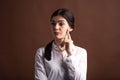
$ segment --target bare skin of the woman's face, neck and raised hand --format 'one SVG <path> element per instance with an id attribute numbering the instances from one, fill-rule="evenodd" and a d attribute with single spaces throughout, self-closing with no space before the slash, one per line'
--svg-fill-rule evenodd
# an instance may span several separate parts
<path id="1" fill-rule="evenodd" d="M 72 55 L 70 32 L 73 30 L 68 24 L 67 20 L 62 16 L 55 16 L 51 20 L 51 30 L 54 37 L 55 44 L 61 51 L 66 50 L 68 56 Z"/>

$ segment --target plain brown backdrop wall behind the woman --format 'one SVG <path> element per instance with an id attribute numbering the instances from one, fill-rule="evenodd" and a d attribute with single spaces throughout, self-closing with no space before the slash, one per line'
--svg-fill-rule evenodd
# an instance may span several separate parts
<path id="1" fill-rule="evenodd" d="M 61 7 L 76 17 L 88 80 L 120 80 L 120 0 L 0 0 L 0 80 L 34 80 L 35 52 L 52 39 L 49 17 Z"/>

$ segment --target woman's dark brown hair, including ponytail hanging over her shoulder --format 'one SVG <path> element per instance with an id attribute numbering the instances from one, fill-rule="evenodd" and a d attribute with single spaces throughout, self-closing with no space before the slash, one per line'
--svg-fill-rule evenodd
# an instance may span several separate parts
<path id="1" fill-rule="evenodd" d="M 68 24 L 70 25 L 70 27 L 72 29 L 74 29 L 74 16 L 73 14 L 65 8 L 61 8 L 61 9 L 57 9 L 55 12 L 53 12 L 53 14 L 51 15 L 50 21 L 52 21 L 52 18 L 55 16 L 62 16 L 64 17 Z M 46 47 L 45 47 L 45 54 L 44 54 L 44 58 L 46 58 L 47 60 L 51 60 L 51 51 L 52 51 L 52 43 L 54 40 L 52 40 L 51 42 L 49 42 Z"/>

